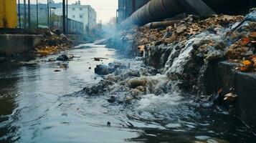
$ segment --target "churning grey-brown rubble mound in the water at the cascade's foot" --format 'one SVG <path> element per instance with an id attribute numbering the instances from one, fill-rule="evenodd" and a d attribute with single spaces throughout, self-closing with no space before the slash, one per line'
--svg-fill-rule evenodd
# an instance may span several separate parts
<path id="1" fill-rule="evenodd" d="M 132 65 L 127 62 L 110 63 L 115 71 L 104 76 L 98 84 L 85 87 L 83 92 L 89 96 L 105 95 L 108 102 L 121 104 L 140 99 L 145 94 L 161 95 L 171 91 L 172 86 L 166 76 L 156 74 L 152 67 L 143 66 L 142 61 Z"/>

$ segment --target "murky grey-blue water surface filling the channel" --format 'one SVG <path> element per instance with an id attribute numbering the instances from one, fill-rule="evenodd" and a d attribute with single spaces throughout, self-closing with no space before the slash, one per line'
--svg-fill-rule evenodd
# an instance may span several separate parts
<path id="1" fill-rule="evenodd" d="M 130 104 L 110 104 L 101 94 L 78 92 L 102 79 L 94 74 L 96 64 L 120 56 L 92 44 L 67 52 L 75 55 L 72 61 L 42 58 L 37 64 L 0 65 L 0 142 L 256 141 L 250 129 L 230 120 L 224 110 L 199 108 L 180 94 L 147 94 Z"/>

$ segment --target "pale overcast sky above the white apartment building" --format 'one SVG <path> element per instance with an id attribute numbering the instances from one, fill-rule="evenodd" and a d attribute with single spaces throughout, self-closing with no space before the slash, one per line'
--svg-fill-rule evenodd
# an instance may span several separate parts
<path id="1" fill-rule="evenodd" d="M 35 0 L 32 0 L 35 1 Z M 47 0 L 39 0 L 39 3 L 45 3 Z M 62 0 L 54 0 L 62 2 Z M 75 3 L 77 0 L 68 0 L 68 4 Z M 97 22 L 101 19 L 103 23 L 107 23 L 112 17 L 116 15 L 118 9 L 118 0 L 80 0 L 81 4 L 90 5 L 97 12 Z"/>

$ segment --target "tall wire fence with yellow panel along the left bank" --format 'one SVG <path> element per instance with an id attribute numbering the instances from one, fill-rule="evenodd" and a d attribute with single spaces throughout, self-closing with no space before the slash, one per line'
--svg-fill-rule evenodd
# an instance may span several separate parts
<path id="1" fill-rule="evenodd" d="M 67 1 L 67 0 L 65 0 Z M 65 8 L 67 3 L 65 5 Z M 63 5 L 51 0 L 0 0 L 0 29 L 63 29 Z M 67 9 L 65 15 L 67 15 Z M 67 34 L 82 34 L 83 24 L 65 19 Z"/>

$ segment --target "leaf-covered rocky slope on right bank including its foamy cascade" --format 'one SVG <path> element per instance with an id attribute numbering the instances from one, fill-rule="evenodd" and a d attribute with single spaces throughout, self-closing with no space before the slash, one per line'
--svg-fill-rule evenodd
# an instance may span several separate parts
<path id="1" fill-rule="evenodd" d="M 146 65 L 179 80 L 182 89 L 196 92 L 204 67 L 213 61 L 229 60 L 241 63 L 240 71 L 255 71 L 256 22 L 247 19 L 254 16 L 252 13 L 206 19 L 191 15 L 166 29 L 133 27 L 121 37 L 133 37 L 133 49 L 143 55 Z"/>

